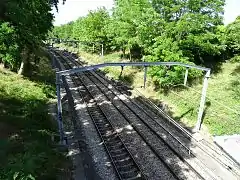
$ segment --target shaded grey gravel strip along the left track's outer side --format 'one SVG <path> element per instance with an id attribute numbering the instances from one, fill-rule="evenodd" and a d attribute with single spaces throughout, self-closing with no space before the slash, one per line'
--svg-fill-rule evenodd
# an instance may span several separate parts
<path id="1" fill-rule="evenodd" d="M 69 76 L 66 76 L 66 82 L 68 86 L 66 88 L 69 88 L 73 101 L 70 102 L 72 103 L 71 108 L 74 108 L 75 111 L 75 114 L 72 115 L 74 132 L 68 137 L 70 143 L 69 147 L 73 148 L 75 146 L 75 150 L 71 152 L 71 155 L 75 156 L 76 154 L 81 154 L 86 179 L 118 180 L 119 178 L 116 176 L 116 172 L 111 164 L 109 156 L 105 151 L 89 114 L 87 113 L 86 104 L 82 101 L 79 95 L 78 87 L 75 87 Z M 78 160 L 79 158 L 73 159 L 75 169 L 73 178 L 76 180 L 84 180 L 82 179 L 83 176 L 79 175 L 79 171 L 82 171 L 82 169 Z"/>

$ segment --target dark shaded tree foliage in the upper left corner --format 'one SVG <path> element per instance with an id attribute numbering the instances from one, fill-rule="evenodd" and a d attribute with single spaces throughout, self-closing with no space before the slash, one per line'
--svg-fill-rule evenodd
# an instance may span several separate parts
<path id="1" fill-rule="evenodd" d="M 52 6 L 58 0 L 1 0 L 0 63 L 17 70 L 53 27 Z M 27 56 L 27 57 L 26 57 Z"/>

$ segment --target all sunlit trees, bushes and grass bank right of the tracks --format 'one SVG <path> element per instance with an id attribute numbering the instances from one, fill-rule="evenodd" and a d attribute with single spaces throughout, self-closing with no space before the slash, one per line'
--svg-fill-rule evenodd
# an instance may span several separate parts
<path id="1" fill-rule="evenodd" d="M 239 133 L 240 17 L 224 26 L 224 5 L 222 0 L 116 0 L 111 13 L 103 7 L 54 27 L 49 42 L 77 47 L 80 55 L 93 64 L 175 61 L 209 67 L 214 74 L 208 88 L 204 124 L 211 134 Z M 105 55 L 99 58 L 89 53 Z M 121 68 L 104 69 L 134 87 L 143 84 L 140 70 L 125 67 L 121 74 Z M 144 94 L 168 107 L 165 109 L 169 114 L 192 128 L 197 119 L 203 73 L 191 69 L 191 88 L 186 89 L 181 85 L 184 71 L 181 66 L 149 67 Z M 168 106 L 162 105 L 165 103 Z"/>

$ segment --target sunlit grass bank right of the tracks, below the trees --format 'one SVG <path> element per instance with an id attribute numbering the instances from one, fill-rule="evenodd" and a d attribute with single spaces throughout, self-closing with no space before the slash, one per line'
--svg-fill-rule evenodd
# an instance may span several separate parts
<path id="1" fill-rule="evenodd" d="M 104 57 L 90 54 L 74 48 L 65 47 L 70 51 L 78 52 L 89 64 L 123 61 L 120 53 L 107 54 Z M 126 60 L 124 60 L 126 61 Z M 236 134 L 240 132 L 240 63 L 230 61 L 223 63 L 221 71 L 209 79 L 207 99 L 205 104 L 203 129 L 212 135 Z M 139 90 L 150 100 L 154 101 L 175 120 L 189 129 L 193 129 L 197 121 L 198 107 L 201 98 L 202 84 L 191 87 L 178 85 L 168 91 L 156 88 L 153 80 L 148 77 L 147 88 L 139 88 L 143 84 L 141 69 L 105 68 L 108 76 L 122 80 Z"/>

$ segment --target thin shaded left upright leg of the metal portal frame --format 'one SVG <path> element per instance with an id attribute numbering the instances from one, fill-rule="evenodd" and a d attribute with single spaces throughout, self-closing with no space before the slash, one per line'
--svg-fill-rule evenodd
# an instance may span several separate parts
<path id="1" fill-rule="evenodd" d="M 59 129 L 59 135 L 60 135 L 60 143 L 63 144 L 63 122 L 62 122 L 62 103 L 61 103 L 61 80 L 60 75 L 56 73 L 56 86 L 57 86 L 57 110 L 58 110 L 58 129 Z"/>

